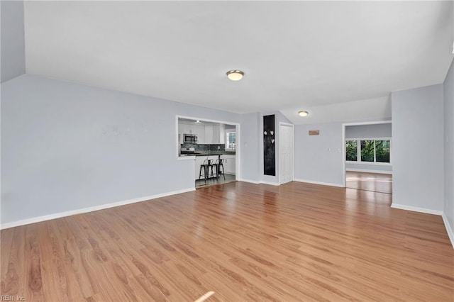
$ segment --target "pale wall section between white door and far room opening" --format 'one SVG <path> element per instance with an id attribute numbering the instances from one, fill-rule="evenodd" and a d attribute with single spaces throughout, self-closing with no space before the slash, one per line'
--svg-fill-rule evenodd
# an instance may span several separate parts
<path id="1" fill-rule="evenodd" d="M 344 186 L 342 132 L 342 123 L 295 125 L 295 179 Z"/>

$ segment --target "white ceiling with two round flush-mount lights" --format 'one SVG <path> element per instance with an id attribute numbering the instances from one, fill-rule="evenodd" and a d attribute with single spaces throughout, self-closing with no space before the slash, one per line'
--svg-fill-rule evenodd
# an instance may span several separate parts
<path id="1" fill-rule="evenodd" d="M 351 118 L 387 118 L 390 91 L 442 83 L 453 58 L 451 1 L 26 1 L 24 13 L 28 74 L 294 123 L 346 121 L 359 100 Z"/>

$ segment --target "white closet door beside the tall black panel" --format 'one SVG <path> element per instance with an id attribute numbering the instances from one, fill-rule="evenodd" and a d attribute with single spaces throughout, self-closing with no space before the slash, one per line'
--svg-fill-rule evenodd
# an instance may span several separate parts
<path id="1" fill-rule="evenodd" d="M 279 125 L 279 182 L 293 181 L 294 169 L 293 125 Z"/>

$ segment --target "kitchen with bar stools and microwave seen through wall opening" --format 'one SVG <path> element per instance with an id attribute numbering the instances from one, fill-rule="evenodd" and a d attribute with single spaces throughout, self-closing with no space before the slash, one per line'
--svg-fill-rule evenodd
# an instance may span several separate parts
<path id="1" fill-rule="evenodd" d="M 196 188 L 236 180 L 236 125 L 178 118 L 179 157 L 194 158 Z"/>

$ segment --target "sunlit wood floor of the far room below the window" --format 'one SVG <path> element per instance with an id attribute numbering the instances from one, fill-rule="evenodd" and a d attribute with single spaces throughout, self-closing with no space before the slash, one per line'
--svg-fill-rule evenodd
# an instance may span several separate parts
<path id="1" fill-rule="evenodd" d="M 347 171 L 345 186 L 351 189 L 392 194 L 392 174 Z"/>

